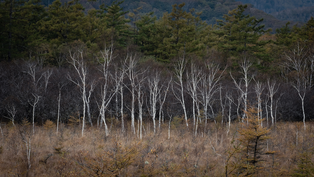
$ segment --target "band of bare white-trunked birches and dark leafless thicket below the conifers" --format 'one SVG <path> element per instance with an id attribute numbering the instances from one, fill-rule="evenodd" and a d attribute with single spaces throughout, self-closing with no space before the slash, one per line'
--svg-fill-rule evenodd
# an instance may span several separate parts
<path id="1" fill-rule="evenodd" d="M 93 60 L 78 41 L 64 54 L 62 67 L 31 60 L 1 63 L 1 118 L 10 124 L 23 119 L 67 124 L 74 117 L 106 131 L 114 121 L 135 133 L 143 121 L 158 129 L 171 116 L 183 116 L 188 127 L 208 121 L 228 126 L 246 120 L 250 103 L 263 110 L 264 126 L 308 121 L 313 117 L 313 54 L 300 43 L 295 47 L 276 76 L 257 72 L 250 58 L 239 62 L 238 71 L 223 68 L 214 55 L 188 55 L 165 65 L 132 46 L 114 50 L 110 45 Z"/>

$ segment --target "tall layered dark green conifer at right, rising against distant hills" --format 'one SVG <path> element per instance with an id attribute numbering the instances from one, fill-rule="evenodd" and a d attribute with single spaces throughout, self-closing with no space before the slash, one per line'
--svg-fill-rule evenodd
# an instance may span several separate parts
<path id="1" fill-rule="evenodd" d="M 260 41 L 259 38 L 270 30 L 263 30 L 264 25 L 261 25 L 263 19 L 244 15 L 246 8 L 247 5 L 239 5 L 223 16 L 225 20 L 217 20 L 220 30 L 217 30 L 216 34 L 222 37 L 219 48 L 231 55 L 251 54 L 268 61 L 269 57 L 264 53 L 263 46 L 270 41 Z"/>

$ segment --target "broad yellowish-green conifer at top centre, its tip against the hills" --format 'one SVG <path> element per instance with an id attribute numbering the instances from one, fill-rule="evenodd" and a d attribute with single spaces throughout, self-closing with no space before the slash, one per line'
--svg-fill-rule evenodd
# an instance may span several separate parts
<path id="1" fill-rule="evenodd" d="M 155 52 L 162 61 L 170 62 L 178 54 L 185 57 L 204 48 L 201 38 L 207 24 L 200 19 L 201 13 L 194 16 L 194 9 L 187 12 L 184 6 L 185 3 L 172 5 L 171 13 L 165 13 L 156 22 L 156 43 L 159 45 Z"/>

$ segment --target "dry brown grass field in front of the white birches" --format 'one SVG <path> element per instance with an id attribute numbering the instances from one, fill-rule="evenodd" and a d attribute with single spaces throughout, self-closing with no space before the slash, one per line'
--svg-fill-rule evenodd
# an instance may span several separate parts
<path id="1" fill-rule="evenodd" d="M 225 176 L 228 152 L 239 143 L 241 126 L 234 122 L 227 133 L 225 124 L 209 122 L 204 130 L 202 122 L 195 136 L 192 124 L 187 129 L 179 122 L 168 139 L 167 122 L 155 135 L 147 123 L 140 140 L 137 130 L 134 135 L 127 127 L 122 133 L 118 125 L 109 125 L 109 136 L 103 128 L 88 127 L 83 137 L 79 126 L 61 125 L 58 135 L 55 125 L 36 126 L 35 134 L 30 125 L 2 126 L 0 176 L 97 176 L 91 169 L 101 165 L 107 165 L 103 176 Z M 264 148 L 276 153 L 262 156 L 253 175 L 291 176 L 302 153 L 313 153 L 314 123 L 306 122 L 306 130 L 298 122 L 278 122 L 269 129 Z M 23 133 L 29 135 L 30 163 Z"/>

